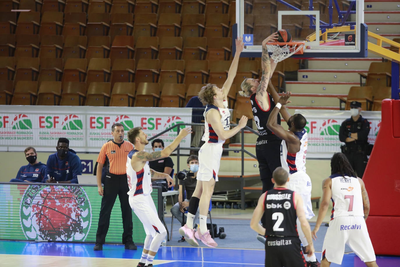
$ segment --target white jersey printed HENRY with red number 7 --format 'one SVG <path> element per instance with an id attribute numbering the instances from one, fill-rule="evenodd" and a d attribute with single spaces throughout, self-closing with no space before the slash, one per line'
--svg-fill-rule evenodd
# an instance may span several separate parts
<path id="1" fill-rule="evenodd" d="M 362 216 L 364 205 L 362 203 L 361 185 L 356 177 L 344 177 L 333 174 L 332 179 L 332 216 Z"/>

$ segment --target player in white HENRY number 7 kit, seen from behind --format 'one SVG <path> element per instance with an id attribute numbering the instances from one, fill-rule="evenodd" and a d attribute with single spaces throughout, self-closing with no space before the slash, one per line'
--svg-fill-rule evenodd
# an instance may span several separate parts
<path id="1" fill-rule="evenodd" d="M 331 176 L 322 181 L 322 202 L 312 236 L 320 229 L 330 199 L 333 209 L 329 228 L 322 245 L 321 263 L 341 265 L 344 245 L 347 244 L 368 267 L 377 267 L 374 248 L 365 221 L 370 212 L 370 201 L 362 179 L 356 176 L 343 153 L 335 153 L 330 161 Z"/>

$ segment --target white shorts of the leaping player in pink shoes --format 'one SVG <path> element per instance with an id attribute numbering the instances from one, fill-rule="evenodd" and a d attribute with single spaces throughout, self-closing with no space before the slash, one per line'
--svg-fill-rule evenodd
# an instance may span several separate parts
<path id="1" fill-rule="evenodd" d="M 222 143 L 205 143 L 199 150 L 199 170 L 197 181 L 210 181 L 212 178 L 218 182 L 218 171 L 222 156 Z"/>

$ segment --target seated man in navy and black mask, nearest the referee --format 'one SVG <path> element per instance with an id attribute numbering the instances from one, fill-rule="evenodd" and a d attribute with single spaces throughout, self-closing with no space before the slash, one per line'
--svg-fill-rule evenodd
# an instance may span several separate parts
<path id="1" fill-rule="evenodd" d="M 78 175 L 82 174 L 82 163 L 69 146 L 68 139 L 58 139 L 57 152 L 51 154 L 47 160 L 46 183 L 78 183 Z"/>

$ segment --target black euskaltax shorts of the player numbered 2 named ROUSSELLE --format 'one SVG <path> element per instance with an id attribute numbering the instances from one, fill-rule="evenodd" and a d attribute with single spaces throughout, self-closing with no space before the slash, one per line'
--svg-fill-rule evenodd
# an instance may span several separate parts
<path id="1" fill-rule="evenodd" d="M 298 237 L 267 237 L 266 267 L 307 267 Z"/>

